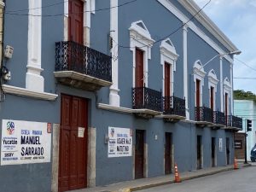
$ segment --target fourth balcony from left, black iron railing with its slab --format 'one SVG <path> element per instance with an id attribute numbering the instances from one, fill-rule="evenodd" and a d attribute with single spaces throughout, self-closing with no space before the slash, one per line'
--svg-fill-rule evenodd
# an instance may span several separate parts
<path id="1" fill-rule="evenodd" d="M 206 126 L 213 125 L 213 111 L 207 107 L 195 107 L 196 125 Z"/>

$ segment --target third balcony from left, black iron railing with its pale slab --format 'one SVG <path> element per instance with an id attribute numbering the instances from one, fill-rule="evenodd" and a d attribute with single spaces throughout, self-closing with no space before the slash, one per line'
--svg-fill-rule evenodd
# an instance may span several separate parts
<path id="1" fill-rule="evenodd" d="M 177 96 L 163 97 L 163 117 L 167 122 L 177 122 L 186 119 L 185 99 Z"/>

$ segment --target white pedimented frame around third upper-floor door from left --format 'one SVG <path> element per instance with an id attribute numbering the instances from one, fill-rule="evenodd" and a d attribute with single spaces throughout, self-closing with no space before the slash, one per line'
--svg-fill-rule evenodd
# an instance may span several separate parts
<path id="1" fill-rule="evenodd" d="M 171 93 L 170 95 L 173 96 L 173 91 L 174 91 L 174 72 L 176 71 L 176 61 L 177 61 L 177 57 L 179 55 L 177 55 L 176 49 L 174 47 L 174 45 L 172 44 L 172 41 L 170 40 L 170 38 L 166 38 L 165 40 L 163 40 L 160 44 L 160 64 L 163 67 L 163 80 L 162 80 L 162 84 L 163 84 L 163 91 L 162 91 L 162 96 L 165 96 L 166 90 L 165 90 L 165 64 L 169 64 L 170 65 L 170 75 L 171 78 L 170 79 L 170 90 Z"/>

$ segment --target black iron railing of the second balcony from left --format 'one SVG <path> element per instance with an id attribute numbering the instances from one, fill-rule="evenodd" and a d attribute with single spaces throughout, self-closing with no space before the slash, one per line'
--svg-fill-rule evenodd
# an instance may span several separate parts
<path id="1" fill-rule="evenodd" d="M 147 108 L 154 111 L 162 111 L 161 92 L 148 87 L 132 88 L 132 108 Z"/>

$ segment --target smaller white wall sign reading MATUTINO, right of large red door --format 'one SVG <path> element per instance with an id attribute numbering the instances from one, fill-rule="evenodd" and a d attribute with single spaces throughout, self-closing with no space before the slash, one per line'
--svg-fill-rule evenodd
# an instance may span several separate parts
<path id="1" fill-rule="evenodd" d="M 108 127 L 108 157 L 126 157 L 132 154 L 132 130 Z"/>

